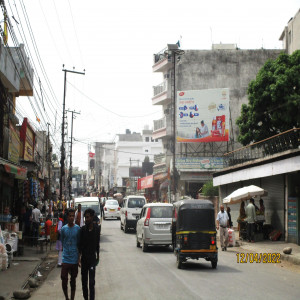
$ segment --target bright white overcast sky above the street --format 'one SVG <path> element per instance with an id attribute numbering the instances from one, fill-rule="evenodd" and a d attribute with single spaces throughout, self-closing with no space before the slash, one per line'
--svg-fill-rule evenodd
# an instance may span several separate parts
<path id="1" fill-rule="evenodd" d="M 182 49 L 233 43 L 241 49 L 281 49 L 279 37 L 299 0 L 5 0 L 18 43 L 34 68 L 35 97 L 19 97 L 19 116 L 38 130 L 50 123 L 53 150 L 61 145 L 64 72 L 66 109 L 76 114 L 73 167 L 87 169 L 88 144 L 141 132 L 162 117 L 152 105 L 153 54 L 181 41 Z M 3 17 L 0 15 L 0 19 Z M 0 23 L 2 26 L 3 23 Z M 13 46 L 9 36 L 8 44 Z M 64 67 L 63 67 L 64 65 Z M 71 114 L 68 115 L 68 141 Z M 36 121 L 38 117 L 41 122 Z"/>

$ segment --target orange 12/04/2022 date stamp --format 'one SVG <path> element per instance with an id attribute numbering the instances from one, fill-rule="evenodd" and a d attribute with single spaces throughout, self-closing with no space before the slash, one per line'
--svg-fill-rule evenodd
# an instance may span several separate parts
<path id="1" fill-rule="evenodd" d="M 237 253 L 236 259 L 238 264 L 245 263 L 263 263 L 263 264 L 280 264 L 280 253 Z"/>

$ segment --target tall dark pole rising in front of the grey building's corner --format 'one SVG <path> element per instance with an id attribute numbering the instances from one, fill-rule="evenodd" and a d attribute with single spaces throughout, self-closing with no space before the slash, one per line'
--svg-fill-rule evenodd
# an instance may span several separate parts
<path id="1" fill-rule="evenodd" d="M 176 56 L 178 62 L 180 61 L 180 55 L 183 55 L 185 52 L 184 50 L 178 49 L 178 45 L 168 45 L 168 50 L 165 51 L 165 56 L 167 58 L 172 57 L 173 62 L 173 145 L 171 147 L 173 152 L 173 161 L 172 161 L 172 169 L 173 169 L 173 176 L 172 176 L 172 191 L 173 191 L 173 201 L 176 199 L 176 192 L 177 192 L 177 169 L 175 164 L 176 158 Z M 171 202 L 171 201 L 170 201 Z"/>

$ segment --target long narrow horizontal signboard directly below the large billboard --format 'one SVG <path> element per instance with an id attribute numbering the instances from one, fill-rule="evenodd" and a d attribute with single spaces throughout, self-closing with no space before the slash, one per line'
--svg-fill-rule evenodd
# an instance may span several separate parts
<path id="1" fill-rule="evenodd" d="M 175 165 L 178 170 L 223 169 L 222 157 L 177 157 Z"/>

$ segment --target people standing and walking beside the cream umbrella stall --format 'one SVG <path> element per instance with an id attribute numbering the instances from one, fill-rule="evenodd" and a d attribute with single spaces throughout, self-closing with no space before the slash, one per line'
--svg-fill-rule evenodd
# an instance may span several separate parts
<path id="1" fill-rule="evenodd" d="M 247 222 L 247 237 L 248 241 L 254 243 L 254 229 L 256 224 L 256 215 L 264 215 L 265 206 L 263 199 L 259 200 L 260 207 L 257 207 L 254 203 L 254 199 L 251 198 L 249 204 L 245 208 L 245 202 L 241 202 L 240 215 L 238 218 L 239 228 L 240 220 L 245 220 Z M 224 205 L 220 206 L 220 211 L 217 215 L 217 230 L 220 230 L 220 243 L 222 251 L 227 250 L 228 245 L 228 229 L 232 227 L 230 207 L 227 207 L 227 212 L 224 210 Z"/>

